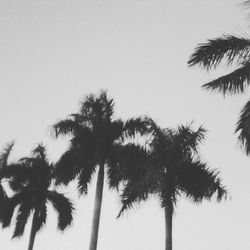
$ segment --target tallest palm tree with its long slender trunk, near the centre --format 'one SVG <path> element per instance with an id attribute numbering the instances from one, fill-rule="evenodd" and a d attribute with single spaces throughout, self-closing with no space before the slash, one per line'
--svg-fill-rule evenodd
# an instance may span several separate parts
<path id="1" fill-rule="evenodd" d="M 86 96 L 76 114 L 54 124 L 55 136 L 70 135 L 68 150 L 62 155 L 56 167 L 58 183 L 68 184 L 77 179 L 78 190 L 88 192 L 92 176 L 98 170 L 96 196 L 93 212 L 90 250 L 97 249 L 100 213 L 103 195 L 104 169 L 107 178 L 111 176 L 108 159 L 124 140 L 143 134 L 148 128 L 147 118 L 135 118 L 127 121 L 114 119 L 114 101 L 105 91 L 98 95 Z"/>

